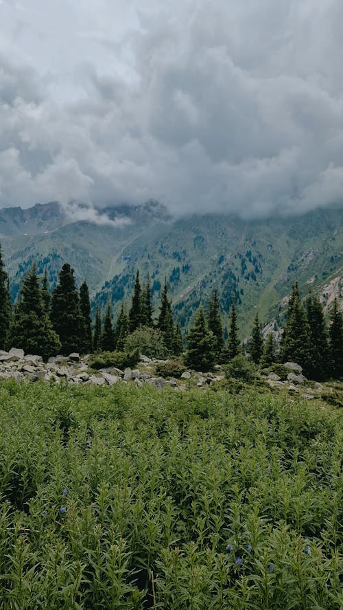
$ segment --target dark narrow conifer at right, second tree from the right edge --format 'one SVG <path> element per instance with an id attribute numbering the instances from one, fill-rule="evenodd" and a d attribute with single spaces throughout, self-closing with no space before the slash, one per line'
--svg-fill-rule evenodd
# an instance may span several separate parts
<path id="1" fill-rule="evenodd" d="M 309 323 L 309 367 L 310 379 L 325 379 L 329 372 L 329 337 L 324 321 L 322 304 L 310 292 L 306 300 Z"/>

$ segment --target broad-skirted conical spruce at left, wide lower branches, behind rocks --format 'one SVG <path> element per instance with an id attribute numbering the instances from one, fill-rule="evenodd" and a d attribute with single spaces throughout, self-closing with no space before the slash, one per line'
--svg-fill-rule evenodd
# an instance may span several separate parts
<path id="1" fill-rule="evenodd" d="M 45 360 L 60 350 L 60 340 L 45 310 L 35 264 L 21 284 L 10 340 L 12 346 Z"/>

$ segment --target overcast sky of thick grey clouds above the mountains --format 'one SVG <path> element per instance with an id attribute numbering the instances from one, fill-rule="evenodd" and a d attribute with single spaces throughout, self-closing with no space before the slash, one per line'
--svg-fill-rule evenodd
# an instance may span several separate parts
<path id="1" fill-rule="evenodd" d="M 0 0 L 0 207 L 343 201 L 342 0 Z"/>

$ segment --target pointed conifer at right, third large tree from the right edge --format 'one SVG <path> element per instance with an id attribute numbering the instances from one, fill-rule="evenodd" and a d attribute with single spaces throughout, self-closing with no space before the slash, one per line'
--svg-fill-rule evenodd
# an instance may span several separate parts
<path id="1" fill-rule="evenodd" d="M 287 308 L 287 322 L 281 340 L 281 361 L 294 361 L 309 372 L 309 324 L 300 300 L 298 284 L 292 286 Z"/>

